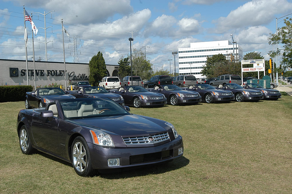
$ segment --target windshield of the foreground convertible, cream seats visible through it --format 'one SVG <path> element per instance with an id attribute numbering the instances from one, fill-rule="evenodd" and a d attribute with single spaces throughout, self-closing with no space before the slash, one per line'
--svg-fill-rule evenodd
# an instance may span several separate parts
<path id="1" fill-rule="evenodd" d="M 59 100 L 65 119 L 129 115 L 123 107 L 107 98 Z"/>

